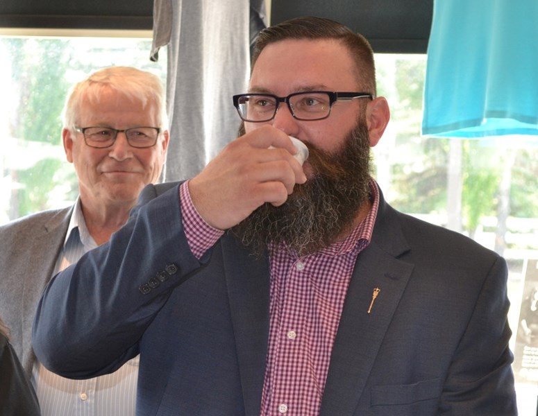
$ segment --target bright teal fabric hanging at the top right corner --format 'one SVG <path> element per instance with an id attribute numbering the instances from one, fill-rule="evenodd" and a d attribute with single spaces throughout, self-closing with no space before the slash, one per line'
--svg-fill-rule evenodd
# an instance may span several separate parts
<path id="1" fill-rule="evenodd" d="M 435 0 L 422 134 L 538 136 L 538 0 Z"/>

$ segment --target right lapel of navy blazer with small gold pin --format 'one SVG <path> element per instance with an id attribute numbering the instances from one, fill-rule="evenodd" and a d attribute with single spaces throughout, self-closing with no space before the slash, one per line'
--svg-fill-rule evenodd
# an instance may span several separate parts
<path id="1" fill-rule="evenodd" d="M 360 253 L 333 345 L 320 416 L 351 416 L 414 267 L 395 211 L 381 196 L 370 245 Z M 379 288 L 372 304 L 373 290 Z M 371 312 L 368 313 L 369 307 Z"/>

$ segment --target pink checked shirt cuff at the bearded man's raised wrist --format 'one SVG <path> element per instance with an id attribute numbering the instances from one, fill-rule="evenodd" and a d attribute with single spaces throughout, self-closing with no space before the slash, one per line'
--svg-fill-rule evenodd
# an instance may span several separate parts
<path id="1" fill-rule="evenodd" d="M 224 231 L 211 227 L 198 214 L 190 197 L 189 181 L 183 182 L 179 187 L 179 202 L 187 243 L 194 257 L 200 260 L 203 254 L 219 241 Z"/>

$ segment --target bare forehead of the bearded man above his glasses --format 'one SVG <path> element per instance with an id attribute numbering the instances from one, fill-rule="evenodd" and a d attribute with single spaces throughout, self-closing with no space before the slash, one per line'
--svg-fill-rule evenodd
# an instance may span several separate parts
<path id="1" fill-rule="evenodd" d="M 353 91 L 355 63 L 335 40 L 283 40 L 267 45 L 253 67 L 253 92 L 290 94 L 305 89 Z"/>

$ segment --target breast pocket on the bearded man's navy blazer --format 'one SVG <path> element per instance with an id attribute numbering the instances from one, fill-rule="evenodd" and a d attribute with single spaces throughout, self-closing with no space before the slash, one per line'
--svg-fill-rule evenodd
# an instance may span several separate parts
<path id="1" fill-rule="evenodd" d="M 413 384 L 374 385 L 371 406 L 391 406 L 437 399 L 441 395 L 442 379 L 430 379 Z"/>

